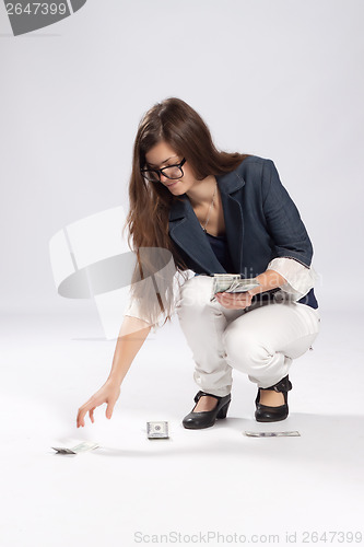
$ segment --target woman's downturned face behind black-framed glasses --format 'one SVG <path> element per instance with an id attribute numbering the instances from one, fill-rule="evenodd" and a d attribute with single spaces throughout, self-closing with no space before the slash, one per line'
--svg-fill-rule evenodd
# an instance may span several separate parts
<path id="1" fill-rule="evenodd" d="M 183 161 L 173 148 L 165 141 L 160 141 L 145 154 L 145 160 L 150 168 L 162 168 L 168 165 L 176 165 Z M 161 183 L 168 188 L 174 196 L 180 196 L 188 191 L 197 182 L 188 161 L 183 166 L 184 176 L 177 179 L 171 179 L 161 174 Z M 153 183 L 154 184 L 154 183 Z M 158 183 L 155 183 L 158 184 Z"/>

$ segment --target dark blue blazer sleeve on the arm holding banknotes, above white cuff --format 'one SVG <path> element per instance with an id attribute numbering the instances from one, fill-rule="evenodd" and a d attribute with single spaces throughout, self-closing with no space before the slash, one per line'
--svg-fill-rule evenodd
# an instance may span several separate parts
<path id="1" fill-rule="evenodd" d="M 309 268 L 313 245 L 298 209 L 280 181 L 272 160 L 262 167 L 262 207 L 275 257 L 294 258 Z"/>

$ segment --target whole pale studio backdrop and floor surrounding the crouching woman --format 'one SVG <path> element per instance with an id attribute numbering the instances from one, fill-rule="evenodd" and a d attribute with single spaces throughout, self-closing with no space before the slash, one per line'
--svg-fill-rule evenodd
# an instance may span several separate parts
<path id="1" fill-rule="evenodd" d="M 360 528 L 363 16 L 360 0 L 89 0 L 13 37 L 0 5 L 4 545 L 129 546 L 137 529 L 209 528 L 284 543 L 287 529 Z M 139 120 L 167 96 L 196 108 L 220 149 L 272 159 L 313 241 L 322 333 L 295 363 L 280 424 L 298 440 L 242 435 L 259 429 L 242 376 L 230 422 L 183 430 L 196 386 L 176 323 L 145 342 L 111 421 L 103 407 L 74 427 L 115 344 L 93 301 L 57 294 L 48 243 L 128 208 Z M 169 444 L 148 444 L 152 419 L 169 420 Z M 104 447 L 54 455 L 71 437 Z"/>

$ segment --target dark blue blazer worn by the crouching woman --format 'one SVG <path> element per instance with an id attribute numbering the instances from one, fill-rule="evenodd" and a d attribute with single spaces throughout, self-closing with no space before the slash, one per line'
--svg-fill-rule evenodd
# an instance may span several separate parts
<path id="1" fill-rule="evenodd" d="M 250 155 L 216 181 L 235 274 L 256 277 L 275 257 L 291 257 L 310 266 L 312 242 L 272 160 Z M 189 269 L 225 274 L 186 194 L 171 207 L 169 236 Z"/>

